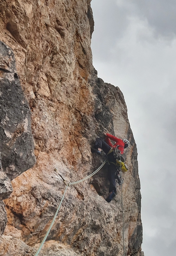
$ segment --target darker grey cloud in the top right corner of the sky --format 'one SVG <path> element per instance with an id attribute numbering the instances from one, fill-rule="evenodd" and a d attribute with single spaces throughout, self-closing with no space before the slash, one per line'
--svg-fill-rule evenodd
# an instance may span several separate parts
<path id="1" fill-rule="evenodd" d="M 173 37 L 176 34 L 176 2 L 174 0 L 116 0 L 118 9 L 126 16 L 147 18 L 156 35 Z M 120 3 L 120 4 L 119 4 Z"/>

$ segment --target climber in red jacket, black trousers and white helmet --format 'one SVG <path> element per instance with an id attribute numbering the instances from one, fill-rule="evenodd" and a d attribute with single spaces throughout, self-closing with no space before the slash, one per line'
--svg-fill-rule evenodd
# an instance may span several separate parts
<path id="1" fill-rule="evenodd" d="M 115 185 L 115 174 L 117 171 L 117 162 L 116 162 L 116 158 L 114 157 L 114 151 L 113 149 L 115 149 L 117 147 L 117 149 L 120 150 L 121 155 L 124 153 L 124 149 L 126 149 L 129 145 L 130 142 L 128 139 L 119 139 L 109 133 L 104 133 L 104 135 L 106 136 L 105 141 L 102 138 L 97 138 L 95 141 L 95 145 L 94 148 L 91 148 L 92 153 L 97 153 L 98 155 L 102 154 L 102 151 L 104 151 L 104 153 L 106 153 L 107 158 L 108 158 L 108 180 L 110 182 L 109 185 L 109 195 L 106 198 L 106 201 L 109 203 L 111 202 L 111 200 L 115 197 L 115 193 L 116 193 L 116 185 Z M 111 143 L 111 140 L 113 140 L 115 142 L 115 144 L 113 145 Z M 122 162 L 124 162 L 124 158 L 121 156 Z"/>

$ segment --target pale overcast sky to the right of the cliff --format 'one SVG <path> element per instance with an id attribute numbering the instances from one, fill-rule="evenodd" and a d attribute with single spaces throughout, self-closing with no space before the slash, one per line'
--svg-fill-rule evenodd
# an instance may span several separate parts
<path id="1" fill-rule="evenodd" d="M 93 65 L 138 147 L 145 256 L 176 255 L 176 1 L 92 0 Z"/>

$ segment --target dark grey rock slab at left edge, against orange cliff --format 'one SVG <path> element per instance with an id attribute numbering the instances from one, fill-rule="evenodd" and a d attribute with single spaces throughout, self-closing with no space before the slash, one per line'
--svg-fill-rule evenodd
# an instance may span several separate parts
<path id="1" fill-rule="evenodd" d="M 29 105 L 17 75 L 14 53 L 0 41 L 0 152 L 12 180 L 35 164 Z"/>

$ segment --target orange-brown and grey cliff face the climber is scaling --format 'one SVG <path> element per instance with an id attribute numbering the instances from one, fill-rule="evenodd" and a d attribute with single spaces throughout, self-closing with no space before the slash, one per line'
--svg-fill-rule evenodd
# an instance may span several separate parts
<path id="1" fill-rule="evenodd" d="M 29 170 L 16 178 L 7 169 L 14 191 L 5 200 L 0 255 L 34 255 L 65 190 L 58 172 L 72 182 L 97 169 L 105 156 L 93 155 L 90 147 L 106 129 L 131 142 L 123 184 L 125 251 L 143 256 L 137 149 L 122 92 L 97 78 L 92 65 L 90 0 L 2 0 L 0 13 L 0 40 L 14 51 L 14 79 L 19 76 L 31 109 L 36 156 L 36 165 L 23 163 Z M 107 167 L 68 187 L 39 255 L 123 255 L 120 188 L 111 203 L 107 194 Z"/>

